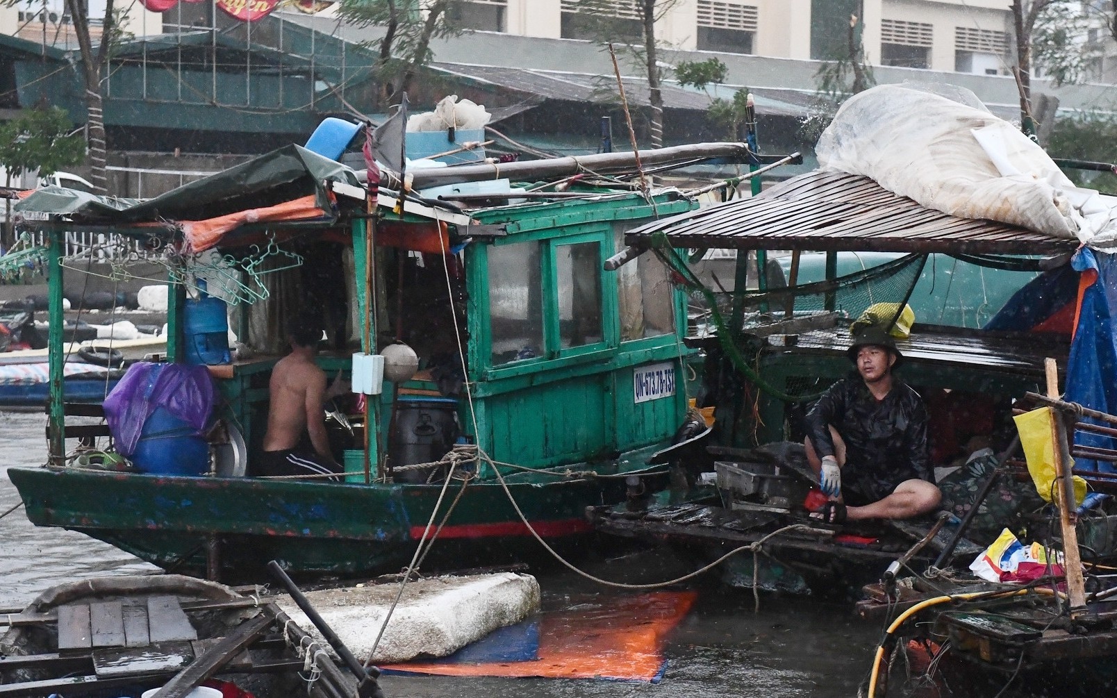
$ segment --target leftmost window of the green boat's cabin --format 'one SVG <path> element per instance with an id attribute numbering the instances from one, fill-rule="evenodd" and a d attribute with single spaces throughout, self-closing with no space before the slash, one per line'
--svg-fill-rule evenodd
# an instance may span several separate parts
<path id="1" fill-rule="evenodd" d="M 488 249 L 493 365 L 543 356 L 540 243 Z"/>

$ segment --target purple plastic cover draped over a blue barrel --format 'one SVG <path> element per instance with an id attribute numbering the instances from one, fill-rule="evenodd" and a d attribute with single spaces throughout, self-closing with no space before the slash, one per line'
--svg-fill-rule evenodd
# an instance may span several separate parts
<path id="1" fill-rule="evenodd" d="M 116 450 L 132 456 L 144 423 L 157 408 L 201 434 L 216 401 L 217 388 L 206 366 L 137 362 L 105 398 L 105 417 Z"/>

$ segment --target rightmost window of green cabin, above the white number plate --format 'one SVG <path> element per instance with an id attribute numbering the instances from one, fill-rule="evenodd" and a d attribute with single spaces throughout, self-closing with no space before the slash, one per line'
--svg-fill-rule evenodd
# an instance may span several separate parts
<path id="1" fill-rule="evenodd" d="M 624 231 L 615 233 L 614 249 L 624 249 Z M 617 270 L 617 302 L 621 342 L 675 332 L 675 294 L 670 271 L 651 254 L 641 255 Z"/>

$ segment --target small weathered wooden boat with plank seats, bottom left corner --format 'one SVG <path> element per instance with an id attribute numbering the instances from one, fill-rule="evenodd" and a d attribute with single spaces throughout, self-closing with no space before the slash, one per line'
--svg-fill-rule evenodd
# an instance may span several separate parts
<path id="1" fill-rule="evenodd" d="M 7 628 L 4 628 L 7 627 Z M 0 697 L 181 698 L 222 677 L 257 698 L 307 691 L 299 649 L 311 638 L 258 596 L 179 575 L 102 577 L 51 587 L 0 615 Z M 303 650 L 305 653 L 306 650 Z M 325 653 L 311 696 L 340 698 L 356 682 Z"/>

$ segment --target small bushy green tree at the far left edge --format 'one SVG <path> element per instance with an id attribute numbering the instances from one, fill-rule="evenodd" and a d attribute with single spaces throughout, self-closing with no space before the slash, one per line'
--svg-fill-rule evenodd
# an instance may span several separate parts
<path id="1" fill-rule="evenodd" d="M 58 107 L 25 109 L 16 118 L 0 125 L 0 166 L 7 172 L 4 185 L 11 188 L 12 176 L 39 171 L 54 174 L 63 168 L 85 160 L 85 138 L 70 133 L 66 111 Z M 7 200 L 4 247 L 12 239 L 11 199 Z"/>

